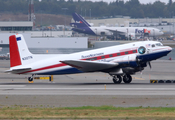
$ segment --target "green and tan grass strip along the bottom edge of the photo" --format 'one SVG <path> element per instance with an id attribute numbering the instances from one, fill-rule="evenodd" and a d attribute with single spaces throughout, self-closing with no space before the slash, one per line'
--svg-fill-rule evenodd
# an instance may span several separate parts
<path id="1" fill-rule="evenodd" d="M 175 108 L 84 106 L 65 108 L 2 107 L 0 119 L 175 119 Z"/>

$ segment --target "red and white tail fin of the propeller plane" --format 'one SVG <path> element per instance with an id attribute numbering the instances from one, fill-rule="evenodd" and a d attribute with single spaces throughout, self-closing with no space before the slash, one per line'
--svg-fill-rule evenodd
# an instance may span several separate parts
<path id="1" fill-rule="evenodd" d="M 10 67 L 25 65 L 33 59 L 33 54 L 28 50 L 23 35 L 9 37 Z"/>

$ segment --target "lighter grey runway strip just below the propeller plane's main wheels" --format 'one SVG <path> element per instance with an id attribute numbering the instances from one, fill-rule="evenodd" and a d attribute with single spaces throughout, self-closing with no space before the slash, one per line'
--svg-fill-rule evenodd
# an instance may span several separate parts
<path id="1" fill-rule="evenodd" d="M 174 83 L 8 83 L 0 85 L 0 95 L 175 95 L 174 86 Z"/>

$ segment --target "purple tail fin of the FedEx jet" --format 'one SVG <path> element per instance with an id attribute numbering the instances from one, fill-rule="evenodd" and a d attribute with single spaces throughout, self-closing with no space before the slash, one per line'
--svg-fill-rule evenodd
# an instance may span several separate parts
<path id="1" fill-rule="evenodd" d="M 83 27 L 91 27 L 91 25 L 89 25 L 88 22 L 86 22 L 85 19 L 83 19 L 83 17 L 77 13 L 73 13 L 72 17 L 75 21 L 75 23 L 71 23 L 71 26 L 76 26 L 77 28 L 83 28 Z"/>

